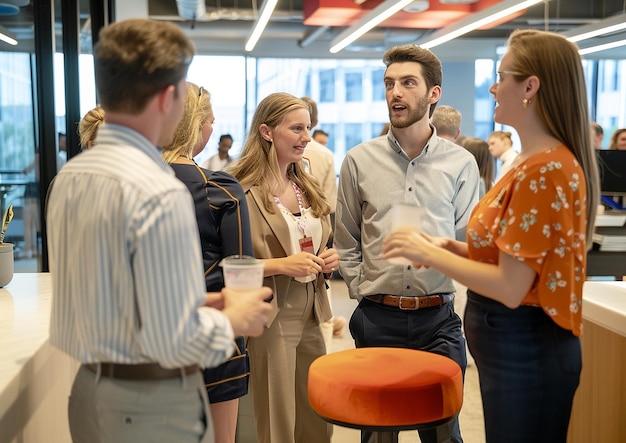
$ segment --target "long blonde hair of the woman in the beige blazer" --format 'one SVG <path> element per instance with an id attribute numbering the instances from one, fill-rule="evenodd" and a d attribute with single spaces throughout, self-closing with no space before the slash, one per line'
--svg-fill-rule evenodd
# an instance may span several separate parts
<path id="1" fill-rule="evenodd" d="M 250 132 L 239 160 L 226 169 L 239 180 L 244 190 L 247 191 L 252 186 L 260 187 L 263 190 L 263 205 L 270 213 L 275 208 L 272 195 L 281 193 L 283 178 L 274 144 L 261 136 L 260 128 L 263 124 L 276 128 L 287 114 L 297 109 L 310 112 L 305 102 L 284 92 L 270 94 L 261 100 L 252 117 Z M 287 176 L 302 189 L 314 216 L 321 217 L 330 213 L 330 205 L 324 198 L 319 183 L 304 170 L 302 162 L 291 163 Z"/>

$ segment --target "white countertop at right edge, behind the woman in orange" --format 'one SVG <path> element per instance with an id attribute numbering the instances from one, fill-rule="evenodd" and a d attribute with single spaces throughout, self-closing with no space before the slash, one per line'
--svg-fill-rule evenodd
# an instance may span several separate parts
<path id="1" fill-rule="evenodd" d="M 585 282 L 583 319 L 626 337 L 626 282 Z"/>

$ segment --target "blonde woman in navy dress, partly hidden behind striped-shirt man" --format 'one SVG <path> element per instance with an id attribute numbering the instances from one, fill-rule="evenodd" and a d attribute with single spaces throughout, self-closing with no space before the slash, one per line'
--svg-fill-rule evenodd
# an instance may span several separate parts
<path id="1" fill-rule="evenodd" d="M 172 142 L 161 153 L 193 197 L 209 292 L 224 287 L 219 266 L 222 258 L 254 254 L 248 205 L 241 185 L 230 174 L 200 168 L 193 160 L 211 137 L 214 119 L 209 92 L 187 82 L 183 117 Z M 248 393 L 249 375 L 248 353 L 241 336 L 235 339 L 233 356 L 216 368 L 204 369 L 218 443 L 235 443 L 239 398 Z"/>

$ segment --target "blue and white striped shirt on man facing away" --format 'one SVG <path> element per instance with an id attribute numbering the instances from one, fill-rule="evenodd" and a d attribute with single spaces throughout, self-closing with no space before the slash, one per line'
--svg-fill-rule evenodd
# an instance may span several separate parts
<path id="1" fill-rule="evenodd" d="M 105 124 L 47 207 L 50 342 L 83 363 L 220 364 L 233 353 L 205 284 L 189 190 L 139 133 Z"/>

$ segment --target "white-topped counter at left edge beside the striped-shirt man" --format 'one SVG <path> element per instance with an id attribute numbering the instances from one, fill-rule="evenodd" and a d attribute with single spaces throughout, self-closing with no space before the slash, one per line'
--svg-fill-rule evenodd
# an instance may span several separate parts
<path id="1" fill-rule="evenodd" d="M 70 442 L 67 402 L 78 363 L 48 343 L 48 273 L 0 289 L 0 441 Z"/>

